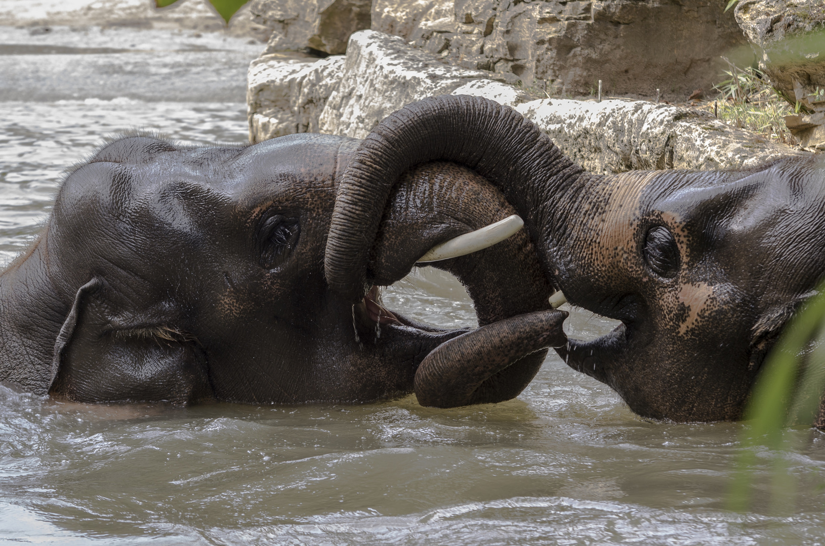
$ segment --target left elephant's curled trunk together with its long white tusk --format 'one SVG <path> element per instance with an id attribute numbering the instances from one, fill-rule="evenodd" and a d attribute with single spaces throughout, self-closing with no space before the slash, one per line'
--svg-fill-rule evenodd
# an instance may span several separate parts
<path id="1" fill-rule="evenodd" d="M 418 206 L 409 206 L 413 201 Z M 421 203 L 428 203 L 423 211 Z M 408 170 L 389 196 L 366 282 L 354 294 L 354 335 L 361 343 L 416 340 L 413 389 L 422 405 L 512 399 L 533 379 L 547 348 L 566 341 L 567 313 L 549 305 L 554 289 L 513 212 L 492 184 L 454 163 Z M 425 265 L 464 284 L 478 329 L 433 328 L 382 304 L 380 287 Z"/>

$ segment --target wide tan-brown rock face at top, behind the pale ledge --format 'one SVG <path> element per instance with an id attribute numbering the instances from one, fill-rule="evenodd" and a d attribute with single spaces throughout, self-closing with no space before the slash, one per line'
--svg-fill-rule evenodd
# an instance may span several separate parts
<path id="1" fill-rule="evenodd" d="M 669 100 L 711 89 L 746 44 L 721 0 L 375 0 L 372 29 L 523 86 Z"/>

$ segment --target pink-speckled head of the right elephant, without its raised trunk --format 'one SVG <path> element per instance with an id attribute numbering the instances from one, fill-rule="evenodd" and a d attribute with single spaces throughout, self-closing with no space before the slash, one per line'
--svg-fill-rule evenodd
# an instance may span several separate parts
<path id="1" fill-rule="evenodd" d="M 622 324 L 559 352 L 642 415 L 738 418 L 766 351 L 825 271 L 823 180 L 820 162 L 799 160 L 604 178 L 558 280 L 573 304 Z"/>

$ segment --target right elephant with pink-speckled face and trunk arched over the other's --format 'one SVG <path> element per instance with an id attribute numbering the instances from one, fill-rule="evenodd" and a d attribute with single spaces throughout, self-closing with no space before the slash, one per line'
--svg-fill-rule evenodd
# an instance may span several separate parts
<path id="1" fill-rule="evenodd" d="M 439 96 L 384 119 L 342 179 L 325 271 L 348 301 L 403 273 L 376 267 L 370 248 L 398 173 L 423 161 L 495 184 L 554 290 L 620 321 L 556 351 L 645 418 L 741 418 L 766 353 L 825 273 L 822 156 L 596 175 L 515 110 Z"/>

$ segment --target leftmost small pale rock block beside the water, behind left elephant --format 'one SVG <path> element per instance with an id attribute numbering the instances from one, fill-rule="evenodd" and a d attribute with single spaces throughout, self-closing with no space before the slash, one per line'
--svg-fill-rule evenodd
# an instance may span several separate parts
<path id="1" fill-rule="evenodd" d="M 249 142 L 293 133 L 318 133 L 318 117 L 341 81 L 344 58 L 262 55 L 249 65 Z"/>

